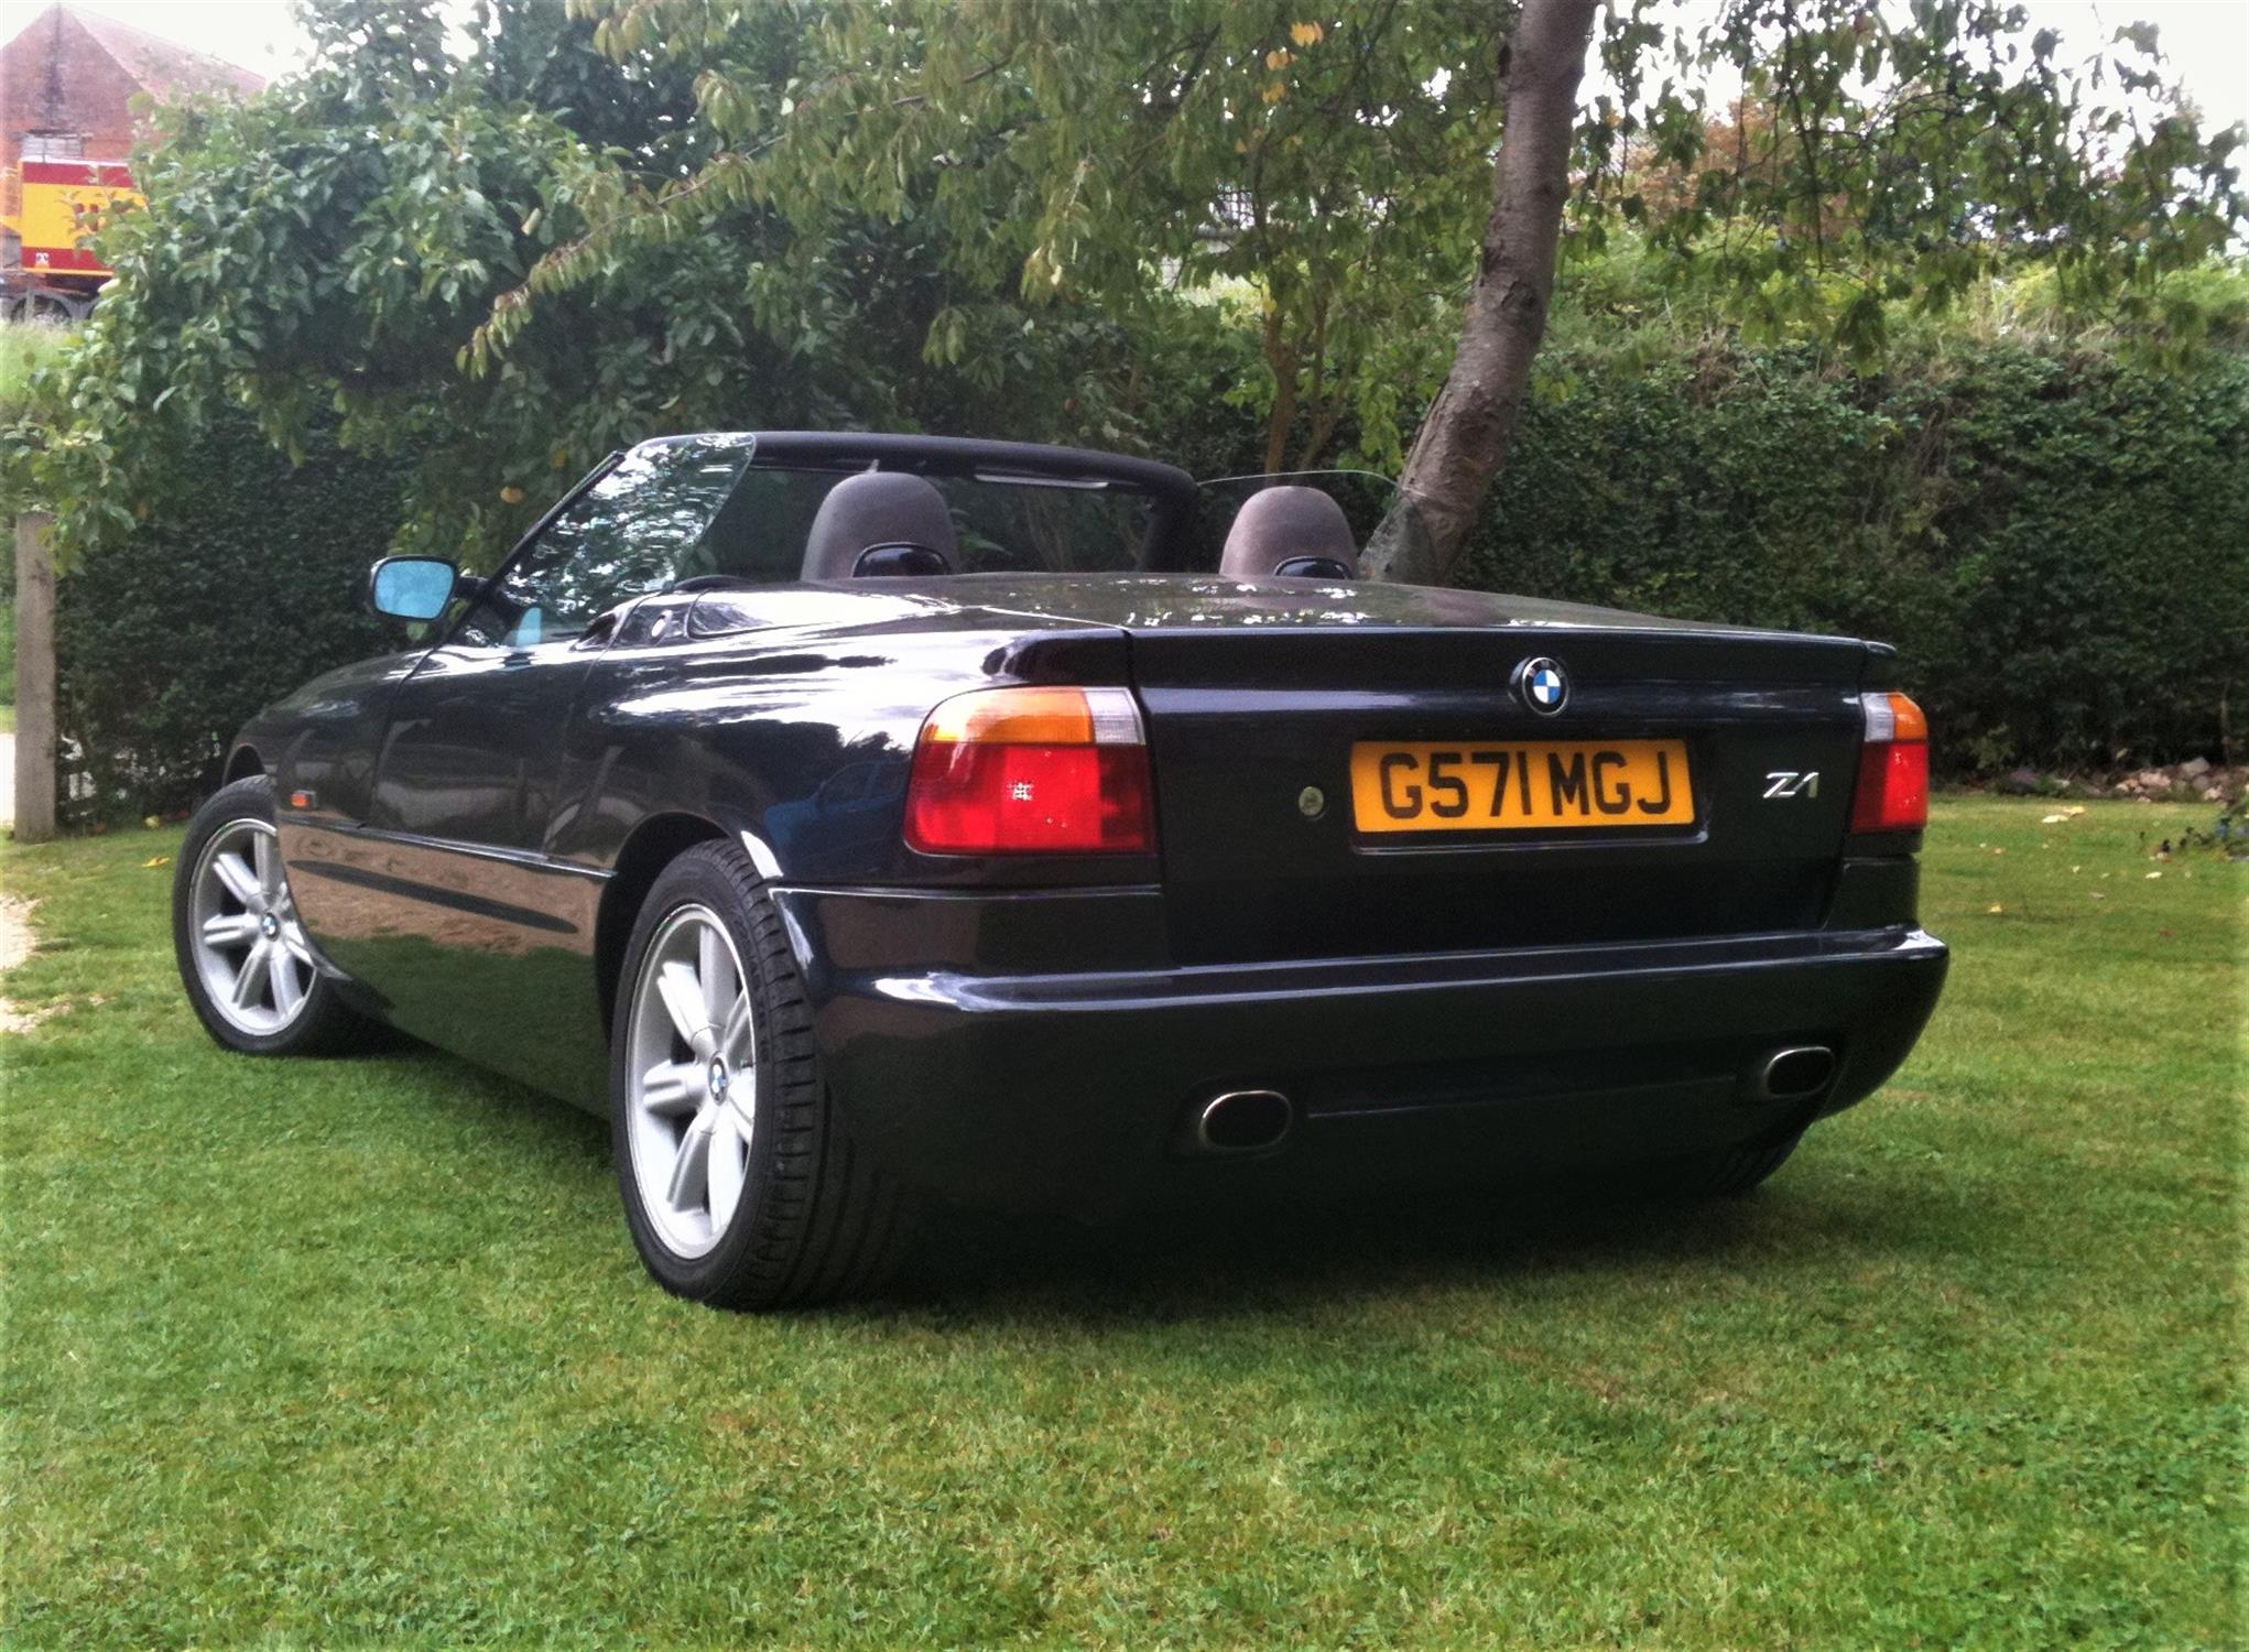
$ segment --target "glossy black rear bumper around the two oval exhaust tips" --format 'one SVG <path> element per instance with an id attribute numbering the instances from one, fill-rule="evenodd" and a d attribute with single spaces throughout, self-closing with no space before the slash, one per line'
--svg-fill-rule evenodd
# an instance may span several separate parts
<path id="1" fill-rule="evenodd" d="M 996 1207 L 1102 1209 L 1169 1178 L 1442 1178 L 1752 1142 L 1880 1086 L 1945 980 L 1943 942 L 1903 926 L 976 973 L 895 962 L 913 951 L 902 928 L 924 931 L 931 955 L 972 951 L 967 908 L 947 897 L 776 897 L 855 1140 L 913 1184 Z M 1129 931 L 1131 908 L 1084 906 L 1071 922 L 1100 928 L 1080 928 L 1077 951 L 1120 933 L 1109 915 Z M 1840 1054 L 1833 1083 L 1756 1099 L 1763 1056 L 1804 1043 Z M 1266 1160 L 1183 1155 L 1185 1119 L 1232 1088 L 1295 1104 L 1286 1144 Z"/>

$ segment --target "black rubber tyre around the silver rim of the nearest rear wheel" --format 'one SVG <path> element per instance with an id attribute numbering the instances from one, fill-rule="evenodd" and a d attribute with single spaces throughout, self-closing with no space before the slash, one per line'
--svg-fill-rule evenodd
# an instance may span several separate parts
<path id="1" fill-rule="evenodd" d="M 756 1113 L 744 1180 L 715 1245 L 681 1254 L 659 1232 L 632 1153 L 632 1016 L 650 948 L 675 915 L 702 908 L 733 942 L 756 1029 Z M 657 877 L 625 948 L 609 1038 L 609 1115 L 625 1223 L 650 1277 L 717 1308 L 783 1308 L 864 1295 L 913 1227 L 913 1193 L 852 1144 L 812 1041 L 812 1009 L 780 913 L 733 843 L 699 843 Z"/>

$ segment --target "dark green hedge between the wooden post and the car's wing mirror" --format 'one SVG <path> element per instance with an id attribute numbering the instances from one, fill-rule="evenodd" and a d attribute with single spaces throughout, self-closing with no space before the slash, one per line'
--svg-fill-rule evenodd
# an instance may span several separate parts
<path id="1" fill-rule="evenodd" d="M 400 468 L 245 418 L 202 436 L 148 526 L 56 580 L 65 818 L 196 805 L 225 742 L 308 677 L 394 643 L 360 607 L 398 526 Z"/>

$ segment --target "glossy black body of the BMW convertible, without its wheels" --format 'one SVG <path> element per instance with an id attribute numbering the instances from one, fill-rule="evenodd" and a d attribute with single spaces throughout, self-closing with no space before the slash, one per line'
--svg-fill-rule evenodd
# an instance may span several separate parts
<path id="1" fill-rule="evenodd" d="M 1889 647 L 1325 564 L 1194 571 L 1217 528 L 1190 479 L 1102 454 L 758 436 L 740 474 L 870 470 L 1131 497 L 1140 537 L 1120 569 L 812 582 L 657 555 L 529 634 L 475 618 L 508 573 L 463 582 L 441 641 L 308 683 L 229 757 L 270 775 L 297 913 L 358 1011 L 605 1113 L 641 906 L 717 841 L 780 915 L 855 1151 L 913 1189 L 1075 1211 L 1167 1178 L 1786 1151 L 1927 1020 L 1945 948 L 1916 922 L 1918 820 L 1860 796 L 1869 735 L 1909 733 L 1869 728 Z M 1127 697 L 1151 841 L 909 843 L 933 708 L 1003 686 Z M 1433 829 L 1367 829 L 1363 744 Z M 1662 798 L 1604 814 L 1608 746 L 1678 753 L 1680 796 L 1667 769 Z M 1469 798 L 1460 775 L 1507 807 L 1509 751 L 1568 825 L 1426 818 Z M 1228 1122 L 1214 1097 L 1248 1101 Z"/>

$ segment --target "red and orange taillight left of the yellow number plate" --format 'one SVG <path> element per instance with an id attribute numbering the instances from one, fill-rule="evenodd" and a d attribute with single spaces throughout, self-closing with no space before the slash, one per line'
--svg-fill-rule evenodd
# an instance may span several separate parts
<path id="1" fill-rule="evenodd" d="M 922 854 L 1147 854 L 1156 787 L 1124 688 L 978 688 L 922 724 L 906 787 Z"/>

